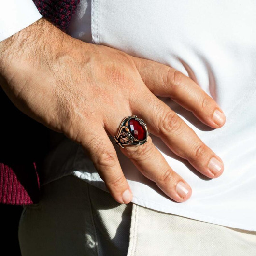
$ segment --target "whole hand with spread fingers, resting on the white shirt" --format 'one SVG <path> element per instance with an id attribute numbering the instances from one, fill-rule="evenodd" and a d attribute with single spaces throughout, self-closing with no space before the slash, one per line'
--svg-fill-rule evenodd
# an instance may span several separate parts
<path id="1" fill-rule="evenodd" d="M 224 125 L 223 112 L 194 81 L 166 65 L 84 43 L 42 18 L 0 43 L 0 74 L 17 108 L 83 146 L 120 203 L 130 202 L 131 189 L 108 136 L 128 115 L 142 118 L 150 133 L 205 176 L 216 178 L 224 170 L 220 157 L 156 96 L 170 97 L 212 128 Z M 191 196 L 150 136 L 143 145 L 118 150 L 171 199 Z"/>

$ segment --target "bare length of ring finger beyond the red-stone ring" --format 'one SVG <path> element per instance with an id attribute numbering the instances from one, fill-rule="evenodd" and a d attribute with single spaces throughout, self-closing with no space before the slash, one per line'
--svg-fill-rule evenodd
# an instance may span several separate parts
<path id="1" fill-rule="evenodd" d="M 171 199 L 184 202 L 189 199 L 192 190 L 185 180 L 171 169 L 164 156 L 159 152 L 148 136 L 147 142 L 135 147 L 124 147 L 120 150 L 148 179 Z"/>

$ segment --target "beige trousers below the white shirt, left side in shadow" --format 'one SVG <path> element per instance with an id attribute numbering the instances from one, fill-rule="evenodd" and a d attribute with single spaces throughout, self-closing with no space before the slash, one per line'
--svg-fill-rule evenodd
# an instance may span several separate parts
<path id="1" fill-rule="evenodd" d="M 23 256 L 256 256 L 256 232 L 119 204 L 73 175 L 42 186 L 18 236 Z"/>

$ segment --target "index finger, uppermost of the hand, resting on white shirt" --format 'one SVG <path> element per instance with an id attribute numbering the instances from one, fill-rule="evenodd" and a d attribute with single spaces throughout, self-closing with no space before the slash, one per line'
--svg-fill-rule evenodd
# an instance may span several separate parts
<path id="1" fill-rule="evenodd" d="M 170 97 L 201 122 L 220 128 L 226 117 L 218 104 L 191 78 L 161 63 L 133 57 L 142 80 L 156 96 Z"/>

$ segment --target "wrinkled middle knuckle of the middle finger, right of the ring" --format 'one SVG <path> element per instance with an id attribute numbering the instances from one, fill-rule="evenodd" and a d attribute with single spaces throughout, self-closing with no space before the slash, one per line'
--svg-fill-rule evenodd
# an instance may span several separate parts
<path id="1" fill-rule="evenodd" d="M 161 119 L 159 128 L 163 134 L 180 133 L 182 129 L 182 122 L 175 112 L 169 111 Z"/>

